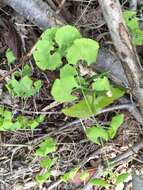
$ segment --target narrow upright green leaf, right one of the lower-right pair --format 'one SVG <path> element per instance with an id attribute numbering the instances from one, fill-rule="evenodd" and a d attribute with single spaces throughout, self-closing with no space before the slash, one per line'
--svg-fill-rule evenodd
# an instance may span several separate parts
<path id="1" fill-rule="evenodd" d="M 113 139 L 115 137 L 116 132 L 117 132 L 118 128 L 120 127 L 120 125 L 123 123 L 123 121 L 124 121 L 123 114 L 118 114 L 112 118 L 110 127 L 108 129 L 108 134 L 111 139 Z"/>

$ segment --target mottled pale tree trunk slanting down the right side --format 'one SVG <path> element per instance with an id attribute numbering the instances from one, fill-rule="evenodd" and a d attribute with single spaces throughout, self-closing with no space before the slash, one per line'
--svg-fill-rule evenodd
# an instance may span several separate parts
<path id="1" fill-rule="evenodd" d="M 131 94 L 143 116 L 143 69 L 122 17 L 119 0 L 99 0 L 105 21 L 129 82 Z"/>

